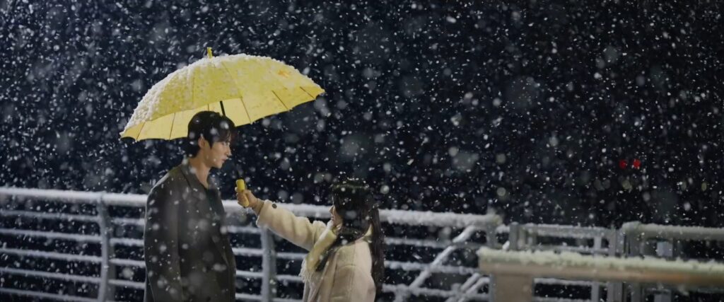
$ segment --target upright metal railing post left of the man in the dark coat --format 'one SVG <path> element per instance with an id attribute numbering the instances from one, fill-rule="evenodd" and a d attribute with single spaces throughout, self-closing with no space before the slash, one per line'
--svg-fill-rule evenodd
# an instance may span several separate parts
<path id="1" fill-rule="evenodd" d="M 109 285 L 109 279 L 115 275 L 115 267 L 111 264 L 113 247 L 111 246 L 111 235 L 113 226 L 108 207 L 103 199 L 103 194 L 98 196 L 96 208 L 98 211 L 98 227 L 101 232 L 101 282 L 98 283 L 98 301 L 114 300 L 113 288 Z"/>

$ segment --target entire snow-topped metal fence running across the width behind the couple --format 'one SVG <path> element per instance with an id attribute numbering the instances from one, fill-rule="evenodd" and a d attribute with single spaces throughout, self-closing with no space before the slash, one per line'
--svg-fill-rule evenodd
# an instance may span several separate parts
<path id="1" fill-rule="evenodd" d="M 0 296 L 115 301 L 124 300 L 128 291 L 135 290 L 142 295 L 145 206 L 143 195 L 0 188 Z M 283 206 L 298 216 L 329 218 L 327 206 Z M 255 285 L 249 287 L 254 289 L 251 291 L 237 288 L 237 300 L 298 301 L 301 279 L 296 272 L 305 253 L 300 248 L 288 248 L 288 244 L 285 248 L 283 240 L 253 226 L 251 211 L 242 209 L 235 201 L 224 201 L 224 209 L 232 238 L 251 236 L 258 242 L 245 241 L 232 247 L 237 264 L 258 264 L 251 269 L 237 269 L 238 281 Z M 492 282 L 479 269 L 476 251 L 481 247 L 513 252 L 673 258 L 679 256 L 681 240 L 724 240 L 724 230 L 637 222 L 615 230 L 515 222 L 502 225 L 502 219 L 492 214 L 382 210 L 380 218 L 390 230 L 386 232 L 386 274 L 392 276 L 389 280 L 396 280 L 383 285 L 382 301 L 490 300 L 489 293 L 500 282 Z M 46 244 L 55 242 L 68 244 Z M 140 252 L 127 252 L 133 248 Z M 395 250 L 400 249 L 403 253 L 396 254 Z M 45 263 L 52 261 L 64 261 L 68 265 L 54 267 Z M 281 271 L 285 272 L 278 273 Z M 73 286 L 62 290 L 53 285 L 14 286 L 12 280 L 17 277 L 36 278 L 42 280 L 43 285 L 57 280 Z M 560 274 L 536 276 L 531 280 L 531 287 L 578 287 L 587 288 L 590 293 L 586 298 L 533 297 L 533 301 L 626 301 L 628 298 L 643 301 L 647 290 L 655 291 L 657 301 L 671 298 L 668 288 L 621 280 L 601 282 L 583 277 L 572 280 Z M 604 290 L 606 298 L 602 299 Z"/>

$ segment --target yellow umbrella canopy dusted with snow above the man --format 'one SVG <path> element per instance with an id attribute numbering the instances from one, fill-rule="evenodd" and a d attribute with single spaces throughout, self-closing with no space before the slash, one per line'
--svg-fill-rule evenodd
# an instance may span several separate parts
<path id="1" fill-rule="evenodd" d="M 143 96 L 121 138 L 185 137 L 197 112 L 211 110 L 246 125 L 313 101 L 324 90 L 309 77 L 266 56 L 208 57 L 168 75 Z"/>

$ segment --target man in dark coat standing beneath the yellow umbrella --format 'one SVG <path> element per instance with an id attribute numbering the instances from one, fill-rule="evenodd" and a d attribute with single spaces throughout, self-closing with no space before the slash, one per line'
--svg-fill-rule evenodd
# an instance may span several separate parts
<path id="1" fill-rule="evenodd" d="M 236 261 L 224 227 L 221 196 L 209 183 L 231 155 L 234 123 L 199 112 L 188 124 L 186 157 L 148 194 L 146 302 L 235 301 Z"/>

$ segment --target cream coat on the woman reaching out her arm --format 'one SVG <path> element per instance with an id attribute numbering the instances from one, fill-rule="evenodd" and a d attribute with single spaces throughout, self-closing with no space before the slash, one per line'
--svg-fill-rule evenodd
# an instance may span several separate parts
<path id="1" fill-rule="evenodd" d="M 267 227 L 275 234 L 307 251 L 327 228 L 323 222 L 309 222 L 306 217 L 295 217 L 271 201 L 257 206 L 256 225 Z M 357 240 L 337 248 L 321 272 L 314 272 L 304 284 L 303 301 L 366 302 L 374 301 L 372 256 L 369 243 Z"/>

